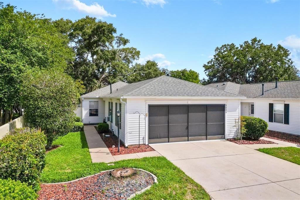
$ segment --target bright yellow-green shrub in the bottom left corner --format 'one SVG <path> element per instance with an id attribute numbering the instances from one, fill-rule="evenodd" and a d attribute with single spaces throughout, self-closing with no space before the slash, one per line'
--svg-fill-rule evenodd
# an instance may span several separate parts
<path id="1" fill-rule="evenodd" d="M 37 199 L 38 195 L 26 183 L 11 179 L 0 179 L 0 199 L 23 200 Z"/>

